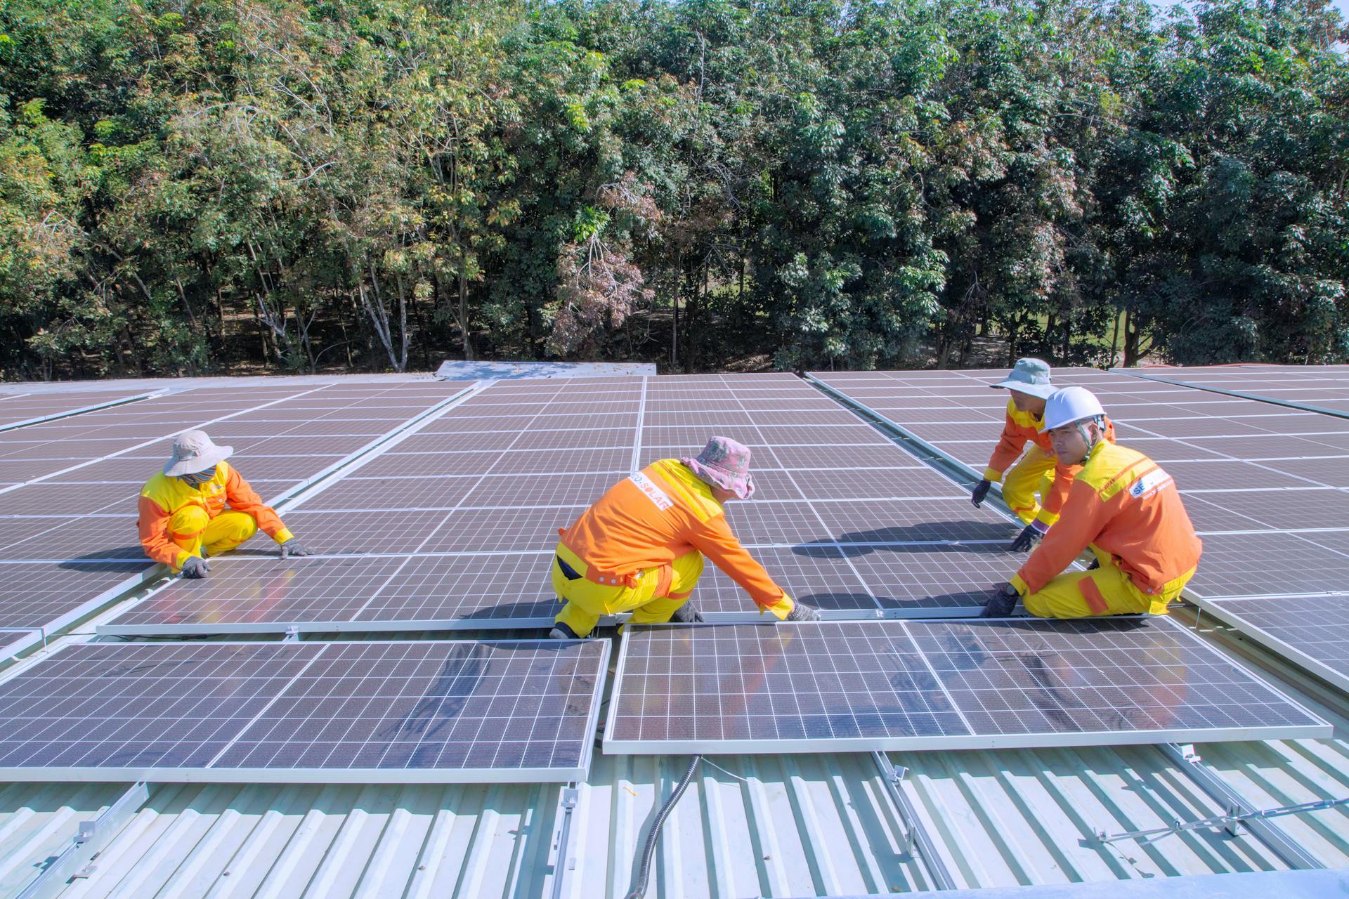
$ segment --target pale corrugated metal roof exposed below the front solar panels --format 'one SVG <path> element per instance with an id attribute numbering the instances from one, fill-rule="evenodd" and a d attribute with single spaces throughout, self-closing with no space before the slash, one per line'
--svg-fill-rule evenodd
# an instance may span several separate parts
<path id="1" fill-rule="evenodd" d="M 1210 749 L 1217 747 L 1210 747 Z M 1230 744 L 1260 772 L 1271 805 L 1345 793 L 1349 747 L 1334 741 Z M 1089 751 L 913 753 L 902 788 L 944 846 L 959 886 L 1109 881 L 1286 865 L 1249 836 L 1184 832 L 1099 844 L 1125 832 L 1222 809 L 1148 747 Z M 1282 759 L 1276 764 L 1276 760 Z M 809 896 L 929 890 L 880 771 L 865 753 L 727 756 L 704 764 L 670 815 L 649 895 Z M 633 887 L 650 818 L 687 759 L 599 756 L 580 788 L 563 895 L 621 899 Z M 1340 766 L 1340 767 L 1337 767 Z M 1275 774 L 1278 772 L 1278 774 Z M 1226 771 L 1225 771 L 1226 774 Z M 1282 780 L 1284 783 L 1275 784 Z M 1255 780 L 1252 780 L 1253 783 Z M 1242 784 L 1246 786 L 1246 784 Z M 89 793 L 93 790 L 93 793 Z M 27 787 L 53 806 L 117 788 Z M 549 896 L 557 786 L 453 787 L 167 784 L 63 896 Z M 1255 799 L 1256 797 L 1252 797 Z M 5 818 L 16 814 L 8 797 Z M 16 855 L 55 855 L 85 817 L 24 822 Z M 1346 815 L 1295 822 L 1327 867 L 1349 865 Z M 5 846 L 16 845 L 11 836 Z M 7 853 L 8 855 L 8 853 Z M 13 884 L 11 877 L 7 886 Z"/>

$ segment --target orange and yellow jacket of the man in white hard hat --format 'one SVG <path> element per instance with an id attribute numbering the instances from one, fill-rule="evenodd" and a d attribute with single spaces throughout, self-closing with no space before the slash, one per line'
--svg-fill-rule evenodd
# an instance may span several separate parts
<path id="1" fill-rule="evenodd" d="M 1101 441 L 1078 470 L 1063 507 L 1012 585 L 1035 593 L 1094 543 L 1147 594 L 1199 563 L 1203 543 L 1194 532 L 1175 481 L 1137 450 Z"/>

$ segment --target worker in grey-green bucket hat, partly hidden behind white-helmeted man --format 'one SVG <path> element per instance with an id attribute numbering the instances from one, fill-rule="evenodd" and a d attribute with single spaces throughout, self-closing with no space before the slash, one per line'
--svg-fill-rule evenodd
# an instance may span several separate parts
<path id="1" fill-rule="evenodd" d="M 989 488 L 1002 480 L 1002 500 L 1025 523 L 1021 532 L 1012 540 L 1012 550 L 1024 553 L 1039 543 L 1050 527 L 1063 514 L 1063 503 L 1068 499 L 1077 465 L 1063 462 L 1054 453 L 1054 443 L 1044 433 L 1044 404 L 1058 387 L 1050 383 L 1050 365 L 1039 359 L 1018 359 L 1012 372 L 994 390 L 1005 390 L 1008 399 L 1006 421 L 1002 437 L 993 447 L 993 457 L 983 470 L 983 480 L 974 487 L 970 496 L 975 507 L 983 503 Z M 1114 425 L 1105 419 L 1105 439 L 1114 442 Z M 1021 456 L 1027 443 L 1031 447 Z M 1012 462 L 1020 462 L 1008 472 Z M 1036 501 L 1036 493 L 1040 501 Z"/>

